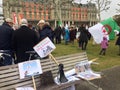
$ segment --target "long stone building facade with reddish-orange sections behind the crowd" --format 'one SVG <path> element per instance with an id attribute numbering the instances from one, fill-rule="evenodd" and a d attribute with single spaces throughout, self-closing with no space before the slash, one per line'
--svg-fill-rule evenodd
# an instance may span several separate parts
<path id="1" fill-rule="evenodd" d="M 11 17 L 19 24 L 22 18 L 36 25 L 40 19 L 50 22 L 55 27 L 61 21 L 63 25 L 82 23 L 94 25 L 98 22 L 95 4 L 73 4 L 61 0 L 54 4 L 52 0 L 3 0 L 4 17 Z M 59 0 L 57 0 L 59 1 Z M 68 0 L 69 1 L 69 0 Z"/>

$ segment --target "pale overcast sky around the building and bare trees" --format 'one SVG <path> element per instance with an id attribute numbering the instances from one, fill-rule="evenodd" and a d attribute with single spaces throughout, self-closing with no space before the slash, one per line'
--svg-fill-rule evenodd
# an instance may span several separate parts
<path id="1" fill-rule="evenodd" d="M 76 2 L 80 2 L 85 4 L 87 2 L 87 0 L 75 0 Z M 111 0 L 111 4 L 110 4 L 110 9 L 107 12 L 102 12 L 101 13 L 101 18 L 102 19 L 106 19 L 109 17 L 112 17 L 113 15 L 116 15 L 118 13 L 116 13 L 116 8 L 120 8 L 117 6 L 118 3 L 120 3 L 120 0 Z M 2 0 L 0 0 L 0 4 L 2 3 Z M 1 10 L 0 10 L 1 11 Z M 120 14 L 120 13 L 119 13 Z"/>

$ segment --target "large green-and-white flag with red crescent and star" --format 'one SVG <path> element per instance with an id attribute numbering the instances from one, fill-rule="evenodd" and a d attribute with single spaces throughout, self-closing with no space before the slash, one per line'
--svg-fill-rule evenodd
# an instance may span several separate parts
<path id="1" fill-rule="evenodd" d="M 93 36 L 94 41 L 100 44 L 103 37 L 107 37 L 109 40 L 115 39 L 114 30 L 120 30 L 120 27 L 114 21 L 112 17 L 90 27 L 88 31 Z"/>

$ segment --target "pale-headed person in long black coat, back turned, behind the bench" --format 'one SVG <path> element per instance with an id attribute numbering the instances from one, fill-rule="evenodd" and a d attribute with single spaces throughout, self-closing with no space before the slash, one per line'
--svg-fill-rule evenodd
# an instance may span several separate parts
<path id="1" fill-rule="evenodd" d="M 21 27 L 15 30 L 12 38 L 13 49 L 16 54 L 15 63 L 29 60 L 27 51 L 33 51 L 33 47 L 38 43 L 38 37 L 34 30 L 28 27 L 26 19 L 21 20 Z"/>

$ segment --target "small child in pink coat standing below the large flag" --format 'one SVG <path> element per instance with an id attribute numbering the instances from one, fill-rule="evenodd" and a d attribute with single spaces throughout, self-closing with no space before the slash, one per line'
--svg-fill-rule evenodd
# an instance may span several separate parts
<path id="1" fill-rule="evenodd" d="M 101 42 L 101 51 L 100 51 L 99 55 L 105 55 L 107 48 L 108 48 L 108 40 L 106 37 L 103 37 L 103 40 Z"/>

